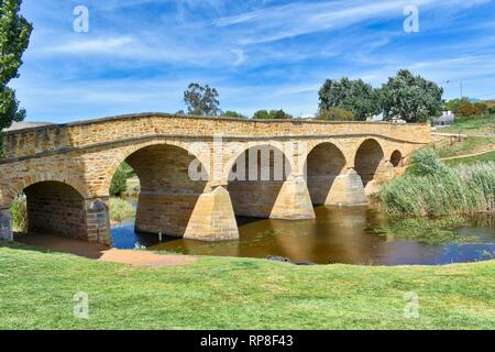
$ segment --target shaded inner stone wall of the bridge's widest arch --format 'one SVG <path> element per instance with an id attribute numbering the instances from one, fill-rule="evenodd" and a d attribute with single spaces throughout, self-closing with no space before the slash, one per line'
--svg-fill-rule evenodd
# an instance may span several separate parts
<path id="1" fill-rule="evenodd" d="M 183 237 L 207 188 L 207 168 L 180 143 L 148 143 L 124 155 L 140 179 L 135 230 Z"/>

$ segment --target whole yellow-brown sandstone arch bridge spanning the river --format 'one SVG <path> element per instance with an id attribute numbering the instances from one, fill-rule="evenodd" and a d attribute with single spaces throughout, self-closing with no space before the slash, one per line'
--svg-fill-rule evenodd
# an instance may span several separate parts
<path id="1" fill-rule="evenodd" d="M 10 131 L 0 238 L 12 239 L 10 208 L 24 194 L 30 232 L 110 245 L 109 188 L 127 161 L 141 182 L 136 230 L 238 239 L 235 216 L 311 219 L 314 205 L 367 204 L 430 139 L 428 124 L 163 113 Z"/>

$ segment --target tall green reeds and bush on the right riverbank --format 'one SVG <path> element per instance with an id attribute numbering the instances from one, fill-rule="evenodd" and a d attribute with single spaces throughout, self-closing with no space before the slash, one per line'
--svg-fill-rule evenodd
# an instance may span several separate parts
<path id="1" fill-rule="evenodd" d="M 419 152 L 408 174 L 383 186 L 380 199 L 388 213 L 424 217 L 494 211 L 495 163 L 454 168 L 433 153 Z"/>

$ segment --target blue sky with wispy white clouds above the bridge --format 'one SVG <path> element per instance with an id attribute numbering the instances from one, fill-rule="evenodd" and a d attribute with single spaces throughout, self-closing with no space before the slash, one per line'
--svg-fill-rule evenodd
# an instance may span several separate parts
<path id="1" fill-rule="evenodd" d="M 404 8 L 419 9 L 406 33 Z M 76 6 L 89 32 L 76 33 Z M 326 78 L 380 86 L 399 68 L 446 98 L 495 99 L 495 4 L 490 0 L 24 0 L 34 24 L 21 78 L 30 121 L 68 122 L 185 109 L 191 81 L 223 110 L 311 114 Z M 447 84 L 446 81 L 450 82 Z"/>

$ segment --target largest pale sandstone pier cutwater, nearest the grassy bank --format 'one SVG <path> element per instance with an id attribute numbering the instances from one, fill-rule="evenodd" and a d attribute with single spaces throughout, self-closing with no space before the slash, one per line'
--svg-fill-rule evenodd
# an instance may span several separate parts
<path id="1" fill-rule="evenodd" d="M 184 233 L 185 239 L 200 241 L 238 240 L 239 230 L 229 191 L 217 186 L 196 202 Z"/>

